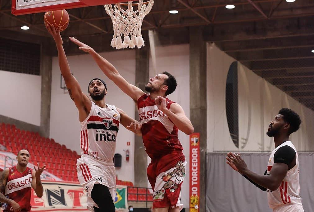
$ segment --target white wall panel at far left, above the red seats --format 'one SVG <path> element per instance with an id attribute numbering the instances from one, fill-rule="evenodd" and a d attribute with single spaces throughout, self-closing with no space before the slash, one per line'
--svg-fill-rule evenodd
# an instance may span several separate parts
<path id="1" fill-rule="evenodd" d="M 40 126 L 41 76 L 0 70 L 0 114 Z"/>

